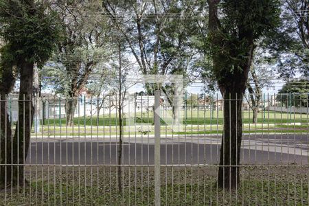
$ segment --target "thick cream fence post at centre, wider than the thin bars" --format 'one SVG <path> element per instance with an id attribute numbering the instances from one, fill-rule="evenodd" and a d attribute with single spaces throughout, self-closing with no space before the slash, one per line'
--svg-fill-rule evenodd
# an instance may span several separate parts
<path id="1" fill-rule="evenodd" d="M 155 205 L 161 205 L 160 194 L 160 91 L 155 91 Z"/>

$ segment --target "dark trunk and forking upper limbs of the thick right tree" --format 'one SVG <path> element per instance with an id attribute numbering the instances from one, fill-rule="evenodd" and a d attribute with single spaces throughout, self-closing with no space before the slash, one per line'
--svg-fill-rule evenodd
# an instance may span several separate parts
<path id="1" fill-rule="evenodd" d="M 220 149 L 218 170 L 218 187 L 235 190 L 239 183 L 240 147 L 242 141 L 242 98 L 247 87 L 248 73 L 253 56 L 253 33 L 246 27 L 238 27 L 238 43 L 243 47 L 246 43 L 246 54 L 236 65 L 231 65 L 229 56 L 238 56 L 237 51 L 225 54 L 229 41 L 222 35 L 218 19 L 218 3 L 220 0 L 208 0 L 209 4 L 209 41 L 213 49 L 212 60 L 214 74 L 224 99 L 224 128 Z M 227 56 L 228 55 L 228 56 Z M 231 69 L 239 68 L 239 69 Z"/>

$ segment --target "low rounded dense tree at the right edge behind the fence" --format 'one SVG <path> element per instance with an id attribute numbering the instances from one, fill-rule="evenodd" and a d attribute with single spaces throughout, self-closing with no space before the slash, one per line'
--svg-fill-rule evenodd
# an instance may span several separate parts
<path id="1" fill-rule="evenodd" d="M 308 107 L 308 98 L 308 79 L 295 79 L 286 82 L 277 94 L 277 101 L 285 106 Z"/>

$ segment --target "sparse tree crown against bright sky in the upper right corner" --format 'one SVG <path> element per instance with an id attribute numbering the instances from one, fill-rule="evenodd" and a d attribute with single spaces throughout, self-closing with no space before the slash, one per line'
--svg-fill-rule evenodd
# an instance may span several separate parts
<path id="1" fill-rule="evenodd" d="M 299 73 L 308 77 L 309 3 L 307 0 L 282 0 L 281 7 L 282 23 L 268 39 L 268 48 L 282 78 L 293 78 Z"/>

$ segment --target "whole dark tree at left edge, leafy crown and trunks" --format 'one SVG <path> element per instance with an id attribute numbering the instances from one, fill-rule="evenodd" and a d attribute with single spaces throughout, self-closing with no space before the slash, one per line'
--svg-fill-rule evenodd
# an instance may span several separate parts
<path id="1" fill-rule="evenodd" d="M 6 166 L 4 170 L 1 168 L 0 174 L 0 185 L 5 187 L 3 179 L 13 186 L 25 183 L 23 169 L 30 146 L 34 111 L 32 104 L 34 64 L 42 67 L 51 56 L 59 39 L 59 32 L 58 19 L 53 12 L 46 9 L 45 2 L 3 0 L 0 1 L 0 8 L 2 25 L 0 36 L 5 42 L 5 49 L 1 51 L 3 62 L 1 67 L 8 71 L 9 76 L 11 76 L 10 69 L 16 67 L 20 81 L 18 124 L 12 138 L 12 150 L 6 150 L 5 153 L 5 157 L 12 155 L 14 166 Z M 7 125 L 7 128 L 9 127 L 10 125 Z M 8 138 L 8 134 L 5 134 L 5 137 Z M 1 140 L 3 139 L 6 140 L 1 137 Z M 7 160 L 5 157 L 1 156 L 1 164 Z"/>

